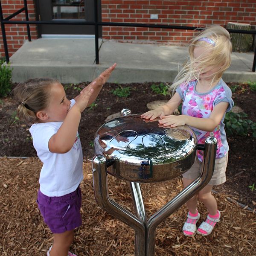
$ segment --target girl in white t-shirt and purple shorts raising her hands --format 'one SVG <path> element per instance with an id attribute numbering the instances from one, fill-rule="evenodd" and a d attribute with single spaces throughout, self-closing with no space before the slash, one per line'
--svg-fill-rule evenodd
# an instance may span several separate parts
<path id="1" fill-rule="evenodd" d="M 14 95 L 20 119 L 32 124 L 29 131 L 43 162 L 38 207 L 54 234 L 47 256 L 76 256 L 69 252 L 74 229 L 81 225 L 83 156 L 78 134 L 81 113 L 98 96 L 116 67 L 113 64 L 71 101 L 55 79 L 31 79 L 17 85 Z"/>

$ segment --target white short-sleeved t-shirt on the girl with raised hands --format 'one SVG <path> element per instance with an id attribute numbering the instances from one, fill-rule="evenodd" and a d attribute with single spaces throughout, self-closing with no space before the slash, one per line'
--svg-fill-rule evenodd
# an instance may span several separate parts
<path id="1" fill-rule="evenodd" d="M 71 100 L 71 106 L 75 100 Z M 83 154 L 77 132 L 73 147 L 64 154 L 49 151 L 48 143 L 62 122 L 33 124 L 29 131 L 39 159 L 43 162 L 40 172 L 40 191 L 47 196 L 67 195 L 76 190 L 83 180 Z"/>

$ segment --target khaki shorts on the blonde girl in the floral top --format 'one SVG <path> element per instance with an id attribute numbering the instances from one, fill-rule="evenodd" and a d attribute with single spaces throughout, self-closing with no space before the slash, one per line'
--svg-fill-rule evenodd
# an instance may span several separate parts
<path id="1" fill-rule="evenodd" d="M 220 185 L 226 181 L 226 169 L 227 169 L 228 154 L 225 157 L 216 158 L 214 171 L 211 180 L 208 185 Z M 202 163 L 196 158 L 192 167 L 183 174 L 183 178 L 195 180 L 202 172 Z"/>

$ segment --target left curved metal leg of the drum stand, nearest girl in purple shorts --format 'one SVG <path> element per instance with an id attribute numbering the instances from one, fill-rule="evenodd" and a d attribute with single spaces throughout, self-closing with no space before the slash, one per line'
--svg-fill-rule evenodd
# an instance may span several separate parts
<path id="1" fill-rule="evenodd" d="M 135 230 L 135 255 L 145 256 L 145 224 L 109 198 L 106 158 L 102 155 L 96 155 L 93 157 L 92 164 L 93 189 L 97 203 L 106 212 Z"/>

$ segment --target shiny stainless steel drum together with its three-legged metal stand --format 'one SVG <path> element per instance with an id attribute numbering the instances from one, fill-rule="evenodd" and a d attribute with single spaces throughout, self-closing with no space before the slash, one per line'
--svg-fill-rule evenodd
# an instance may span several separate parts
<path id="1" fill-rule="evenodd" d="M 194 132 L 186 125 L 163 127 L 158 119 L 150 122 L 125 109 L 120 117 L 99 128 L 94 147 L 93 189 L 97 203 L 135 230 L 136 256 L 153 256 L 157 226 L 211 179 L 216 138 L 208 137 L 204 145 L 198 145 Z M 147 220 L 140 183 L 170 180 L 182 175 L 195 162 L 197 150 L 204 150 L 201 176 Z M 130 182 L 137 216 L 109 198 L 108 174 Z"/>

